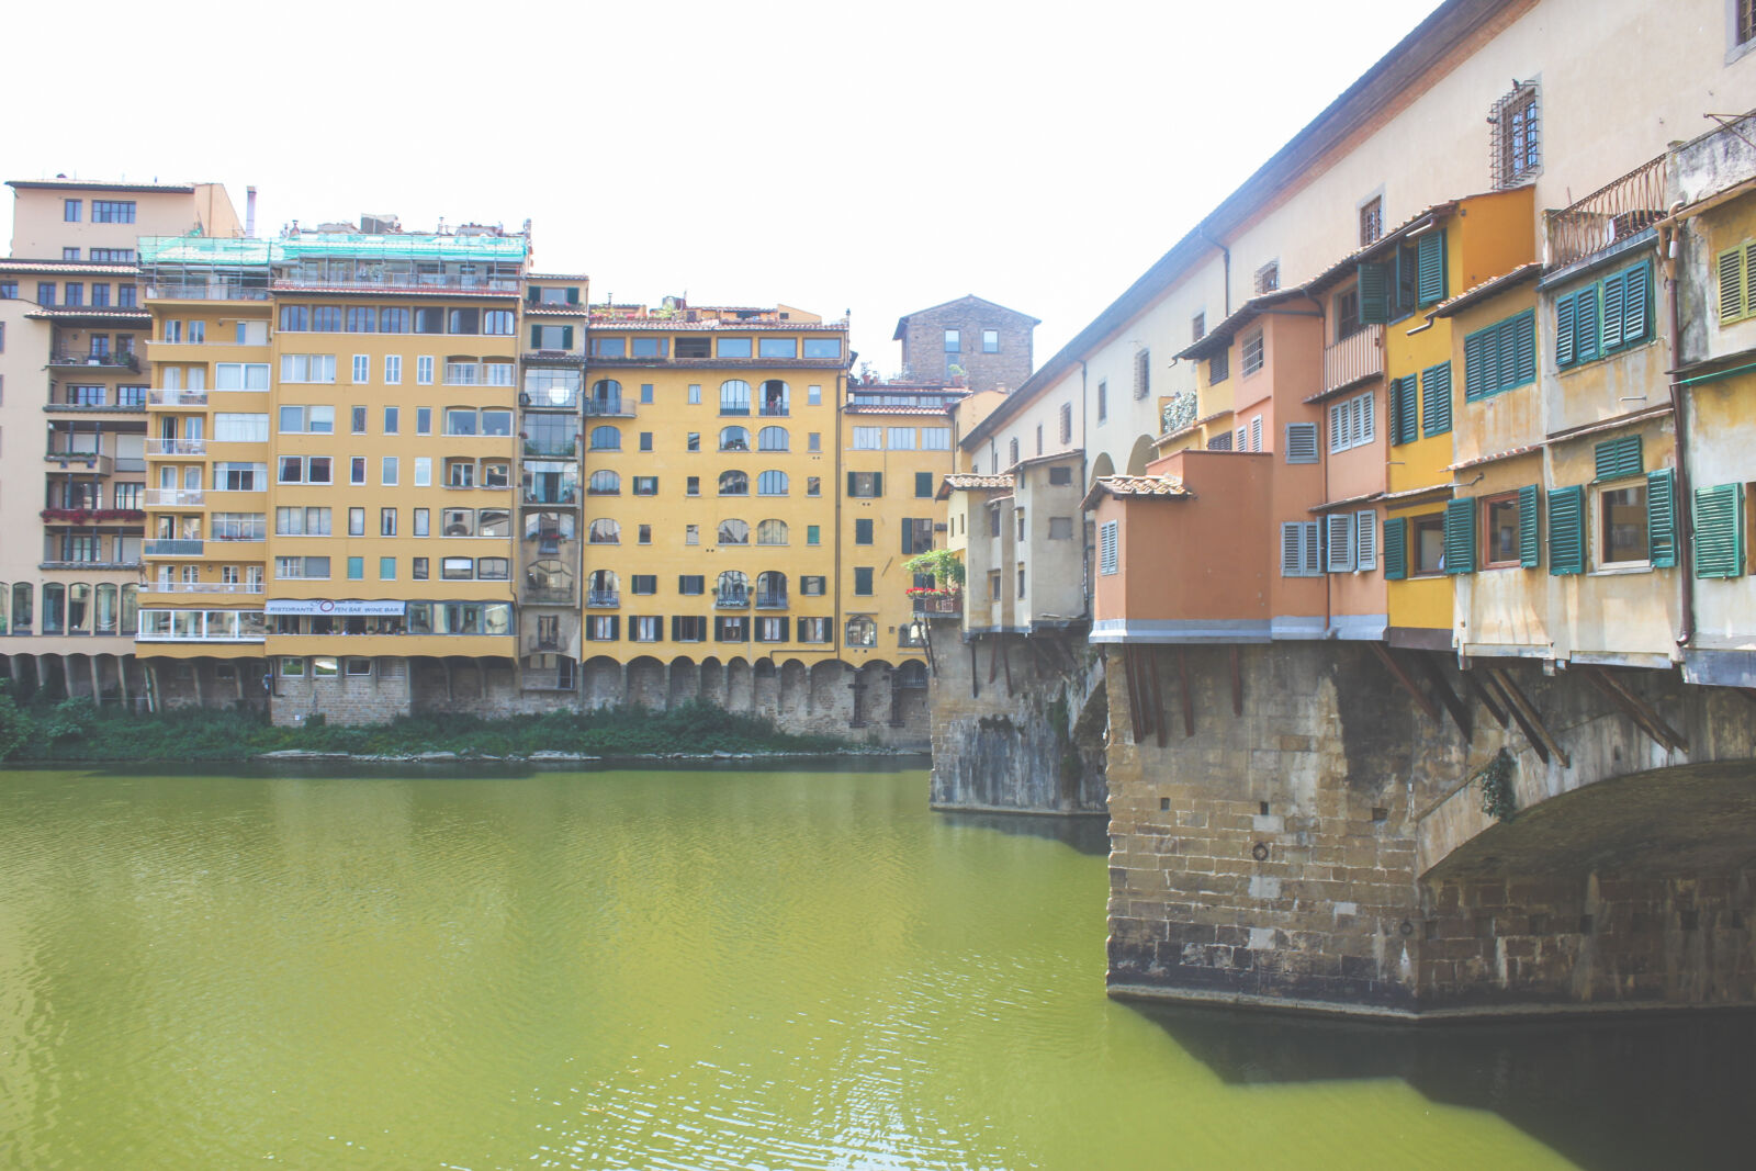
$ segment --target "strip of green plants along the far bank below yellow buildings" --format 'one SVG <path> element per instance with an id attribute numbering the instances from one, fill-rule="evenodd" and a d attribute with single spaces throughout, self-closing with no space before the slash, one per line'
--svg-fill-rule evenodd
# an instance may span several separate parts
<path id="1" fill-rule="evenodd" d="M 606 708 L 485 720 L 406 716 L 385 725 L 335 727 L 309 720 L 274 727 L 253 711 L 176 709 L 160 715 L 98 711 L 84 699 L 21 708 L 0 690 L 0 760 L 246 760 L 272 751 L 355 757 L 639 757 L 650 753 L 832 753 L 855 744 L 832 736 L 781 732 L 760 716 L 709 704 L 673 711 Z"/>

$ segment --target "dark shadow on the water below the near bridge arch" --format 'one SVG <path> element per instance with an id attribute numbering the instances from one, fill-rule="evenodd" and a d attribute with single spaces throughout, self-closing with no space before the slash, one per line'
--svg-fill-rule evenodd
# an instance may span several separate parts
<path id="1" fill-rule="evenodd" d="M 1400 1078 L 1591 1171 L 1751 1166 L 1756 1013 L 1357 1024 L 1136 1004 L 1229 1083 Z"/>

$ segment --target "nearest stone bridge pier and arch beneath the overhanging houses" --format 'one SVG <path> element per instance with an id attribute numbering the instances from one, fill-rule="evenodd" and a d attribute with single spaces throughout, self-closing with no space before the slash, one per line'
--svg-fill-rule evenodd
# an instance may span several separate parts
<path id="1" fill-rule="evenodd" d="M 1756 1004 L 1752 697 L 1457 667 L 1352 643 L 1113 648 L 1112 992 L 1412 1017 Z"/>

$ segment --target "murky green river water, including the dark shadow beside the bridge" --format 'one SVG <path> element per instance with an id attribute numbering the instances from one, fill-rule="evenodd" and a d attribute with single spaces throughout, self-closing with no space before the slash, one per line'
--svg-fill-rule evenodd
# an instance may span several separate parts
<path id="1" fill-rule="evenodd" d="M 1747 1017 L 1120 1004 L 1103 825 L 925 797 L 0 772 L 0 1167 L 1756 1162 Z"/>

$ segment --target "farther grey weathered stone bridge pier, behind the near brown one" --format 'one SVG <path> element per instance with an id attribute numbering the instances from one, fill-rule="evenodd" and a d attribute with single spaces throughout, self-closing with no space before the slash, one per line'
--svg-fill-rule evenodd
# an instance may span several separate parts
<path id="1" fill-rule="evenodd" d="M 1076 636 L 964 643 L 955 621 L 931 637 L 932 806 L 1103 813 L 1103 651 Z"/>

